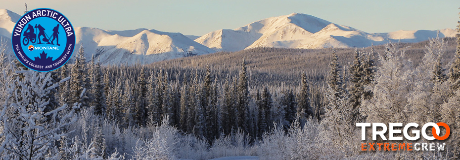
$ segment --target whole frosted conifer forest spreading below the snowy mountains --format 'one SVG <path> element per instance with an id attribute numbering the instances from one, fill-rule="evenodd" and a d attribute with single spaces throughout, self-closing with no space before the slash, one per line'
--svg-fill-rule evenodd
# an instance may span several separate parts
<path id="1" fill-rule="evenodd" d="M 251 65 L 256 61 L 251 56 L 225 67 L 206 61 L 199 67 L 174 65 L 206 56 L 101 66 L 84 57 L 82 45 L 73 62 L 37 72 L 2 44 L 3 160 L 460 158 L 459 34 L 417 43 L 420 47 L 240 51 L 276 51 L 288 60 L 296 53 L 316 54 L 305 67 L 290 60 Z M 287 65 L 295 67 L 283 70 Z M 280 74 L 262 73 L 277 67 Z M 372 140 L 361 140 L 356 123 L 362 122 L 444 122 L 451 134 L 442 152 L 363 152 L 361 143 Z"/>

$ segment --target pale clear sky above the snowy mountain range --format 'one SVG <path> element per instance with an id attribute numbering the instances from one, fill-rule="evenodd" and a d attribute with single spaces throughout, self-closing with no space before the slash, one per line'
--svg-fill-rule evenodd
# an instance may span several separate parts
<path id="1" fill-rule="evenodd" d="M 18 14 L 52 8 L 74 27 L 155 29 L 203 35 L 254 21 L 305 13 L 365 32 L 438 30 L 457 26 L 459 0 L 0 0 Z"/>

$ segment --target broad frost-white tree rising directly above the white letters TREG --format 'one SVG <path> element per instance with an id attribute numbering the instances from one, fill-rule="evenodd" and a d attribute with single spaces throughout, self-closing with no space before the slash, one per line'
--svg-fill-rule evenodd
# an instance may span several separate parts
<path id="1" fill-rule="evenodd" d="M 366 122 L 406 123 L 407 113 L 414 112 L 412 108 L 406 108 L 407 95 L 414 89 L 414 70 L 412 63 L 405 58 L 405 49 L 396 47 L 387 45 L 385 54 L 379 56 L 381 66 L 370 86 L 373 97 L 363 100 L 360 110 L 363 116 L 367 116 Z"/>

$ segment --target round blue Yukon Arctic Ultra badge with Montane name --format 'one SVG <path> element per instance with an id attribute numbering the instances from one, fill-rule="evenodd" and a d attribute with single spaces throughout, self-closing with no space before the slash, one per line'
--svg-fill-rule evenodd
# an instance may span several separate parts
<path id="1" fill-rule="evenodd" d="M 75 47 L 75 31 L 58 11 L 39 8 L 19 19 L 11 43 L 22 64 L 46 72 L 61 67 L 70 59 Z"/>

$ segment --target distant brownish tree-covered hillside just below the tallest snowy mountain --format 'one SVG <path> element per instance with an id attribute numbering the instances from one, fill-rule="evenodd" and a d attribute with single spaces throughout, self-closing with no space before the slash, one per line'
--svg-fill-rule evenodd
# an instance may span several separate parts
<path id="1" fill-rule="evenodd" d="M 455 53 L 455 38 L 446 38 L 449 42 L 444 64 L 453 60 Z M 400 43 L 400 47 L 408 47 L 407 58 L 417 65 L 423 58 L 425 45 L 428 41 L 419 43 Z M 378 53 L 383 53 L 384 46 L 374 46 Z M 353 61 L 353 48 L 337 48 L 340 64 L 345 69 Z M 362 49 L 359 49 L 360 51 Z M 370 51 L 370 47 L 364 48 Z M 218 73 L 236 75 L 243 59 L 248 63 L 250 84 L 266 85 L 298 85 L 301 72 L 307 72 L 310 82 L 322 82 L 327 75 L 328 64 L 332 49 L 283 49 L 283 48 L 253 48 L 238 52 L 218 52 L 215 54 L 186 57 L 149 64 L 156 68 L 174 70 L 176 73 L 190 72 L 194 69 L 205 70 L 210 65 Z M 222 74 L 226 76 L 227 74 Z M 174 76 L 174 75 L 173 75 Z M 225 78 L 225 77 L 221 77 Z M 255 81 L 258 81 L 257 83 Z M 260 83 L 262 81 L 262 83 Z M 254 82 L 254 83 L 252 83 Z"/>

